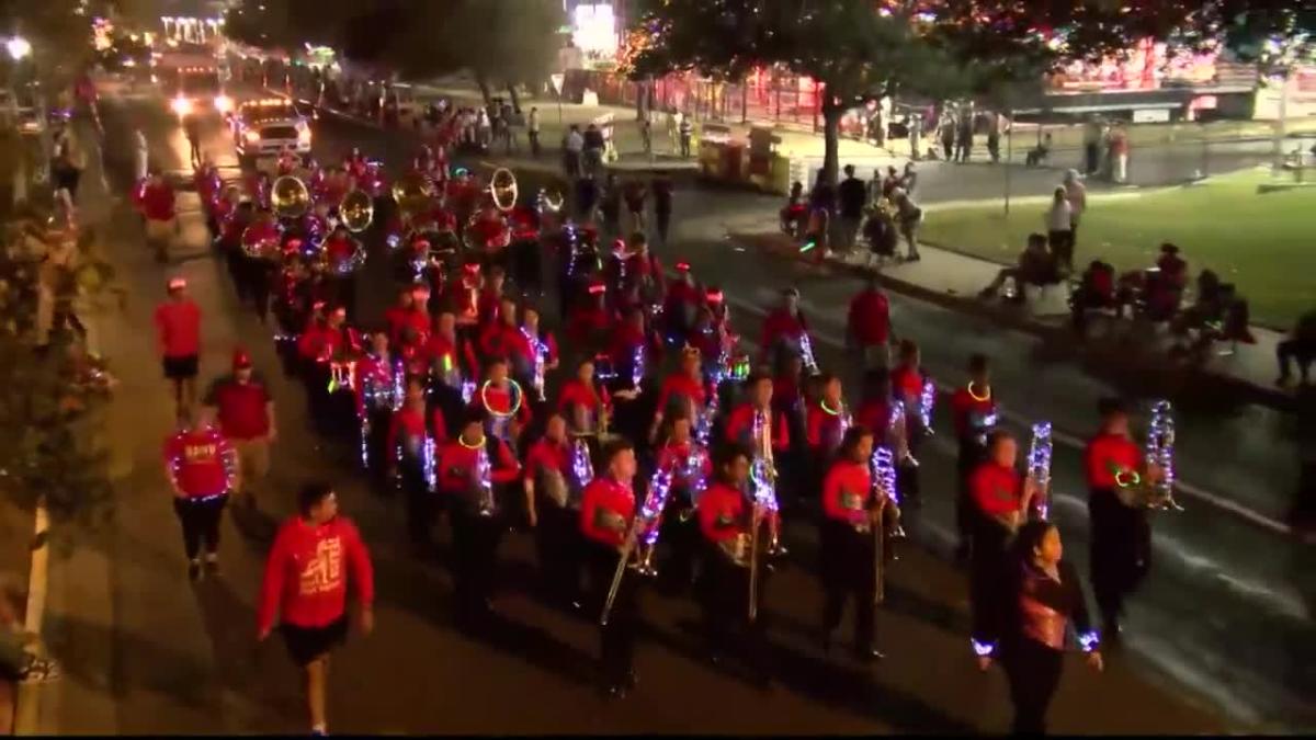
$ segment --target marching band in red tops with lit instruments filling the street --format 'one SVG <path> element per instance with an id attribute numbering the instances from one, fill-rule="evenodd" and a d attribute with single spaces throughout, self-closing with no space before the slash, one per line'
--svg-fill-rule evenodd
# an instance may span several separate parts
<path id="1" fill-rule="evenodd" d="M 842 378 L 820 367 L 794 290 L 765 320 L 762 367 L 750 371 L 720 290 L 683 262 L 669 280 L 644 234 L 604 248 L 592 226 L 559 217 L 561 194 L 521 194 L 507 170 L 487 180 L 447 172 L 424 151 L 392 186 L 358 151 L 340 167 L 307 169 L 288 163 L 242 191 L 203 166 L 216 246 L 240 295 L 262 319 L 272 311 L 317 429 L 359 448 L 382 495 L 401 494 L 417 553 L 432 552 L 446 517 L 463 628 L 487 624 L 500 540 L 525 525 L 546 595 L 599 623 L 609 695 L 634 686 L 636 593 L 655 574 L 670 594 L 695 595 L 713 660 L 732 654 L 766 682 L 762 604 L 770 573 L 790 557 L 782 521 L 816 498 L 822 645 L 853 599 L 853 652 L 882 657 L 875 610 L 901 510 L 919 504 L 917 453 L 937 394 L 917 345 L 900 342 L 894 367 L 871 371 L 851 408 Z M 375 203 L 387 198 L 395 213 L 379 221 Z M 363 242 L 371 228 L 384 234 L 379 253 Z M 355 298 L 371 259 L 396 262 L 403 284 L 367 334 L 354 325 Z M 551 263 L 561 346 L 538 304 Z M 563 359 L 572 371 L 561 373 Z M 1016 471 L 1019 445 L 998 428 L 982 356 L 950 407 L 961 549 L 984 654 L 1005 545 L 1029 517 L 1048 516 L 1050 427 L 1033 429 L 1026 470 Z M 1146 511 L 1173 504 L 1169 407 L 1157 407 L 1146 450 L 1128 425 L 1123 407 L 1103 408 L 1087 450 L 1107 636 L 1149 564 Z"/>

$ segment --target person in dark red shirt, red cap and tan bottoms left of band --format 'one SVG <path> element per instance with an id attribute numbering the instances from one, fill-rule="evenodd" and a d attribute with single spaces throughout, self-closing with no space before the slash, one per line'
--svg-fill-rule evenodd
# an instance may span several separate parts
<path id="1" fill-rule="evenodd" d="M 237 450 L 242 487 L 233 494 L 254 508 L 255 486 L 270 473 L 274 399 L 265 378 L 253 370 L 251 356 L 245 349 L 233 352 L 233 374 L 217 378 L 203 403 L 215 410 L 220 431 Z"/>

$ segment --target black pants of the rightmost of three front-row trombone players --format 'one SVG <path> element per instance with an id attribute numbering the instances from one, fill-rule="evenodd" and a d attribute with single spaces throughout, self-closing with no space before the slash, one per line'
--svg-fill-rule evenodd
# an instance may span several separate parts
<path id="1" fill-rule="evenodd" d="M 846 523 L 826 519 L 821 532 L 822 629 L 830 635 L 841 625 L 845 598 L 854 596 L 854 649 L 867 650 L 874 640 L 874 595 L 876 565 L 873 536 L 857 532 Z"/>

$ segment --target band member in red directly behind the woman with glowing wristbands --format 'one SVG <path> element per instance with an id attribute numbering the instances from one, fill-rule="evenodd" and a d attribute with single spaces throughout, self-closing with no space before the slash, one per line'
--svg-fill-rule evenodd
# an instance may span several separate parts
<path id="1" fill-rule="evenodd" d="M 969 477 L 973 496 L 973 562 L 969 570 L 969 603 L 973 614 L 973 643 L 979 656 L 991 654 L 991 620 L 1005 593 L 1004 564 L 1009 542 L 1028 521 L 1028 507 L 1036 494 L 1032 481 L 1015 470 L 1019 442 L 1008 432 L 992 432 L 987 458 Z"/>

